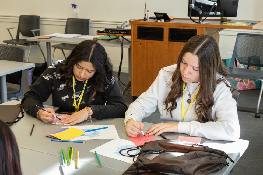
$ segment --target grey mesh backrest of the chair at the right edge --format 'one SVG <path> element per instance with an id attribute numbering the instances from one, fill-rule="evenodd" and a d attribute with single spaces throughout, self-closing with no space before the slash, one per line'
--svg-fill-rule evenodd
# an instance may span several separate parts
<path id="1" fill-rule="evenodd" d="M 263 35 L 238 33 L 229 68 L 235 60 L 249 66 L 263 66 Z"/>

